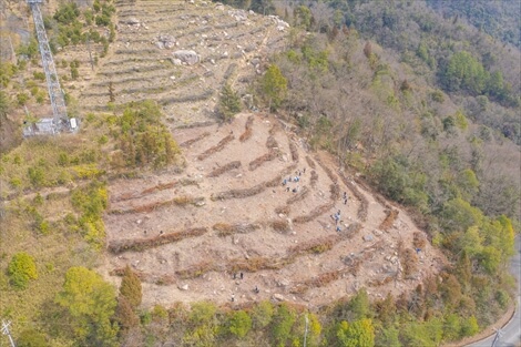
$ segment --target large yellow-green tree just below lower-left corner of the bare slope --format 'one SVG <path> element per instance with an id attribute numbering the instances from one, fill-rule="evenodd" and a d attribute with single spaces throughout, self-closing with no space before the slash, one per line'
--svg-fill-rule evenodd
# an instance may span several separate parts
<path id="1" fill-rule="evenodd" d="M 118 305 L 114 288 L 85 267 L 71 267 L 55 303 L 65 308 L 68 324 L 79 345 L 116 346 L 118 326 L 112 324 Z"/>

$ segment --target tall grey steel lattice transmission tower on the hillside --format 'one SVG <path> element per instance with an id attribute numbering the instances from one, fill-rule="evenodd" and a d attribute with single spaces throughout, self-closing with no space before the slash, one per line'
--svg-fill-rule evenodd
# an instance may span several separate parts
<path id="1" fill-rule="evenodd" d="M 58 80 L 57 67 L 52 59 L 51 48 L 45 34 L 45 27 L 43 25 L 42 12 L 40 11 L 40 3 L 43 0 L 27 0 L 31 7 L 32 18 L 34 19 L 34 27 L 37 28 L 38 45 L 40 47 L 40 54 L 42 55 L 43 70 L 45 71 L 47 85 L 49 89 L 49 98 L 51 99 L 52 114 L 54 119 L 54 126 L 57 131 L 71 130 L 71 123 L 67 116 L 65 99 L 63 91 Z"/>

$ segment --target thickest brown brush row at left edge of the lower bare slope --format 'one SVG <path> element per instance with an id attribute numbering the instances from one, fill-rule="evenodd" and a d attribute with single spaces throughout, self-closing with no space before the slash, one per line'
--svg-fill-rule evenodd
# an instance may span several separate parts
<path id="1" fill-rule="evenodd" d="M 154 237 L 113 241 L 109 244 L 109 251 L 114 254 L 127 251 L 143 252 L 149 248 L 178 242 L 187 237 L 197 237 L 206 234 L 207 231 L 208 229 L 206 227 L 195 227 Z"/>

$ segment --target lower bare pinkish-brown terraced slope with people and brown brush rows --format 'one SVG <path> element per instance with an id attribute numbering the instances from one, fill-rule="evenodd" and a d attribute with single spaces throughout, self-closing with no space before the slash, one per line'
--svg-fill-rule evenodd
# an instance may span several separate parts
<path id="1" fill-rule="evenodd" d="M 104 273 L 118 283 L 131 265 L 145 305 L 269 298 L 315 306 L 362 286 L 381 297 L 415 288 L 442 265 L 405 212 L 327 155 L 307 152 L 274 116 L 172 131 L 183 173 L 110 186 Z"/>

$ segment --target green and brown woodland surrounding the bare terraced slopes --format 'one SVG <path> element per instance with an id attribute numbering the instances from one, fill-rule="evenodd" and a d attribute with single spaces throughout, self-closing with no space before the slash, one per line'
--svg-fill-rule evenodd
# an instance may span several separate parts
<path id="1" fill-rule="evenodd" d="M 18 346 L 302 346 L 306 319 L 307 346 L 439 346 L 493 324 L 513 305 L 508 264 L 521 221 L 519 3 L 223 2 L 277 13 L 294 27 L 287 50 L 270 57 L 251 86 L 257 105 L 407 206 L 449 265 L 412 293 L 371 303 L 361 289 L 314 313 L 269 302 L 239 310 L 212 303 L 143 309 L 130 268 L 120 288 L 92 271 L 104 245 L 104 182 L 182 160 L 157 105 L 129 104 L 88 114 L 91 141 L 83 144 L 51 139 L 2 147 L 2 181 L 18 196 L 34 193 L 9 196 L 0 214 L 0 315 L 17 324 Z M 112 13 L 105 1 L 82 11 L 63 4 L 47 25 L 64 47 L 82 40 L 78 25 L 112 28 Z M 2 63 L 6 90 L 35 63 L 34 50 L 30 42 L 19 48 L 29 61 Z M 9 110 L 38 102 L 38 93 L 0 92 L 2 131 L 13 126 Z M 221 98 L 221 116 L 233 121 L 236 92 L 225 85 Z M 73 183 L 70 196 L 38 193 Z M 58 206 L 68 213 L 50 217 Z M 32 248 L 8 256 L 4 246 L 17 237 Z M 37 287 L 42 274 L 48 279 Z"/>

